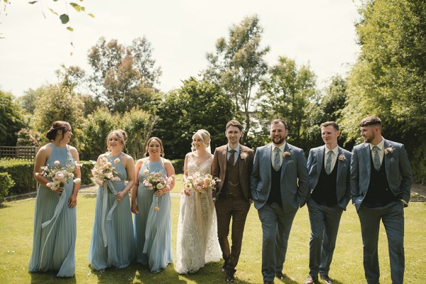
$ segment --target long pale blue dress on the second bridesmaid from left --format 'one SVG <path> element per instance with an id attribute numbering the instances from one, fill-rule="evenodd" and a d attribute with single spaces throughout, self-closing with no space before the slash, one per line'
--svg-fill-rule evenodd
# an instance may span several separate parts
<path id="1" fill-rule="evenodd" d="M 120 160 L 118 164 L 113 162 L 116 158 Z M 89 263 L 98 271 L 109 267 L 124 268 L 135 257 L 130 198 L 126 196 L 117 202 L 114 194 L 114 190 L 120 192 L 126 187 L 126 168 L 120 155 L 108 155 L 107 159 L 116 168 L 120 180 L 106 180 L 97 192 Z"/>

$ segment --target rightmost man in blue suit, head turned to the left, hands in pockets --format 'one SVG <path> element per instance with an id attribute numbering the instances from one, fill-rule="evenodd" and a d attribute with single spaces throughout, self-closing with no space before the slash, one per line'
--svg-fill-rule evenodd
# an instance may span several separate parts
<path id="1" fill-rule="evenodd" d="M 380 221 L 388 236 L 393 284 L 404 282 L 404 207 L 408 206 L 413 174 L 403 144 L 381 136 L 377 116 L 362 119 L 364 143 L 354 147 L 351 159 L 351 194 L 364 246 L 364 271 L 368 284 L 379 283 L 378 231 Z"/>

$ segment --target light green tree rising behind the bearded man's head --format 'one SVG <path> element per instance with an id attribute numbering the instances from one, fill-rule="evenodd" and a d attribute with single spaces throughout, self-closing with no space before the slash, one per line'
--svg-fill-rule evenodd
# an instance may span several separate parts
<path id="1" fill-rule="evenodd" d="M 295 60 L 280 56 L 268 75 L 259 92 L 263 119 L 285 118 L 291 140 L 302 146 L 308 107 L 318 95 L 315 73 L 308 65 L 297 67 Z"/>

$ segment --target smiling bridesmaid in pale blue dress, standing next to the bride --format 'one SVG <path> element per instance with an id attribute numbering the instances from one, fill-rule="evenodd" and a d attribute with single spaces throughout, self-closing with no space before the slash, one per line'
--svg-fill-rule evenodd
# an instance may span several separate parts
<path id="1" fill-rule="evenodd" d="M 136 162 L 131 212 L 136 214 L 133 219 L 136 261 L 157 273 L 173 262 L 170 190 L 175 186 L 175 169 L 169 160 L 163 158 L 160 138 L 151 137 L 146 145 L 145 156 L 148 154 L 148 158 Z M 163 177 L 173 177 L 173 181 L 154 192 L 143 186 L 143 180 L 149 173 L 158 171 L 163 173 Z"/>

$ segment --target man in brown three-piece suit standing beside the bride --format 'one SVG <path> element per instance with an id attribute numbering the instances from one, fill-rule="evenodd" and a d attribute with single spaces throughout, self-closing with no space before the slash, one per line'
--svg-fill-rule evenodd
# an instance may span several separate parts
<path id="1" fill-rule="evenodd" d="M 228 144 L 216 148 L 212 162 L 212 175 L 220 182 L 213 192 L 217 214 L 217 237 L 219 239 L 226 282 L 234 282 L 235 267 L 239 260 L 243 241 L 244 224 L 251 204 L 250 173 L 254 152 L 242 146 L 243 135 L 239 121 L 226 124 L 225 136 Z M 229 223 L 232 218 L 232 250 L 229 248 Z"/>

